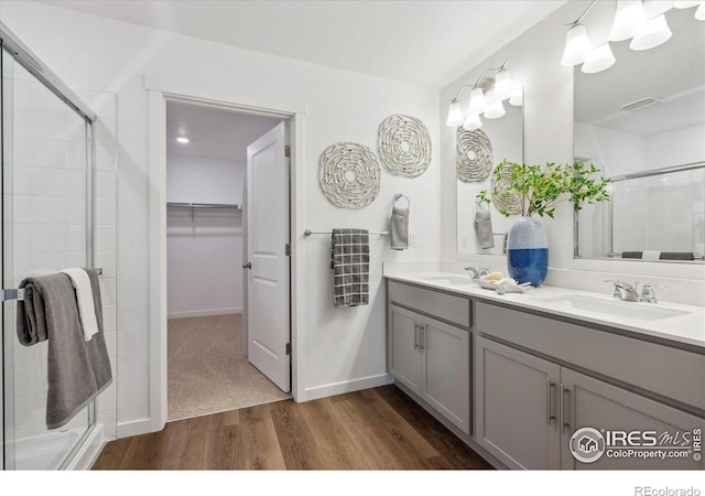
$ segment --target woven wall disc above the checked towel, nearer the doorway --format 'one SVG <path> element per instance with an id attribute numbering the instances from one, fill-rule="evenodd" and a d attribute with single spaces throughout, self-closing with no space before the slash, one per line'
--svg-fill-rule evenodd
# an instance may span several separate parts
<path id="1" fill-rule="evenodd" d="M 377 198 L 380 172 L 377 155 L 358 143 L 332 144 L 318 160 L 321 188 L 341 208 L 362 208 Z"/>

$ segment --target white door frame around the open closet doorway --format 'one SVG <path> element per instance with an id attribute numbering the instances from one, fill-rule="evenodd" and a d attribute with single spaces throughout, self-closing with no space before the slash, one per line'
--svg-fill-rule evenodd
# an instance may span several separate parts
<path id="1" fill-rule="evenodd" d="M 302 339 L 305 314 L 299 304 L 305 294 L 304 257 L 297 233 L 304 226 L 304 121 L 305 101 L 282 100 L 262 95 L 243 95 L 231 88 L 162 76 L 145 76 L 148 90 L 148 162 L 149 162 L 149 323 L 150 323 L 150 431 L 161 431 L 166 424 L 166 101 L 195 104 L 234 110 L 240 114 L 289 119 L 290 162 L 290 229 L 291 229 L 291 392 L 294 401 L 304 401 Z"/>

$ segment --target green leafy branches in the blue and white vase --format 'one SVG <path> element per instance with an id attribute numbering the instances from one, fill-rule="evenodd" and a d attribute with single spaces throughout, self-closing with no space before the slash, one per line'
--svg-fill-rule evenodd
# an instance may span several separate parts
<path id="1" fill-rule="evenodd" d="M 510 204 L 512 198 L 518 197 L 522 216 L 536 214 L 553 218 L 555 208 L 563 202 L 571 202 L 573 208 L 579 211 L 585 204 L 609 200 L 609 180 L 594 177 L 598 172 L 595 165 L 578 161 L 572 164 L 549 162 L 545 165 L 527 165 L 503 160 L 492 172 L 492 188 L 480 191 L 476 197 L 487 203 L 495 198 L 499 204 Z M 505 217 L 512 214 L 506 208 L 499 212 Z"/>

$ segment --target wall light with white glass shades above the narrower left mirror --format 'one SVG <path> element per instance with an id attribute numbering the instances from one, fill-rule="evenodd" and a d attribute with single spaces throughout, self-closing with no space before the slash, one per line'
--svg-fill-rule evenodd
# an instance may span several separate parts
<path id="1" fill-rule="evenodd" d="M 509 99 L 510 105 L 521 106 L 521 88 L 514 87 L 506 65 L 507 61 L 499 67 L 486 69 L 474 85 L 463 86 L 451 100 L 445 125 L 451 128 L 463 126 L 466 131 L 474 131 L 482 126 L 481 114 L 487 119 L 497 119 L 505 115 L 502 100 Z M 467 111 L 464 112 L 458 98 L 468 88 L 470 100 Z"/>

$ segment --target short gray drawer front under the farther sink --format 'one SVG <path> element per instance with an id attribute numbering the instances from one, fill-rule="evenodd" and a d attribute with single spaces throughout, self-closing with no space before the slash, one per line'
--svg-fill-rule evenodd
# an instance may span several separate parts
<path id="1" fill-rule="evenodd" d="M 387 289 L 387 298 L 390 303 L 433 315 L 464 327 L 470 326 L 469 300 L 393 281 L 388 282 Z"/>

